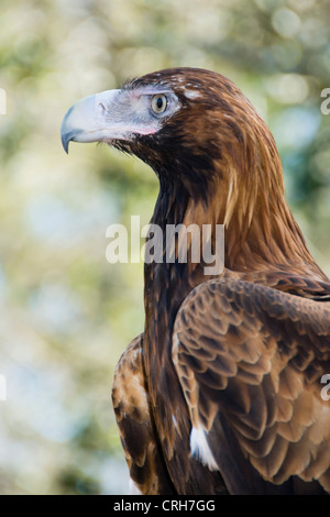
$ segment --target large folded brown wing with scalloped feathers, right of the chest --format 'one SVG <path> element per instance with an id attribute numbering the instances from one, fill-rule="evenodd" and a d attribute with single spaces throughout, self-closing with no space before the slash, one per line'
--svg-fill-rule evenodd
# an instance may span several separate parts
<path id="1" fill-rule="evenodd" d="M 320 396 L 330 304 L 206 282 L 178 312 L 173 360 L 193 426 L 204 429 L 231 492 L 249 491 L 256 473 L 273 484 L 317 480 L 330 492 L 330 403 Z"/>

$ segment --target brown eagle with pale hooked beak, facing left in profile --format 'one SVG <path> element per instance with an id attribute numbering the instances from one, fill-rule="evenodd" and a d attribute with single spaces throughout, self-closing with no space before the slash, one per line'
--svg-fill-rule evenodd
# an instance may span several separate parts
<path id="1" fill-rule="evenodd" d="M 144 264 L 144 332 L 112 391 L 135 488 L 330 493 L 330 280 L 254 107 L 218 73 L 164 69 L 77 101 L 62 123 L 66 152 L 70 141 L 150 165 L 160 184 L 151 223 L 164 231 L 208 224 L 213 250 L 224 226 L 220 273 L 191 253 L 180 262 L 179 240 L 174 261 Z"/>

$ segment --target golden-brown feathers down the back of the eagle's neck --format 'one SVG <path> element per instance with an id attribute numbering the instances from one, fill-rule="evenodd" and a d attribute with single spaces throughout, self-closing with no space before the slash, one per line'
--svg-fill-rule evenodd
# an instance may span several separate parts
<path id="1" fill-rule="evenodd" d="M 275 141 L 246 99 L 245 108 L 230 125 L 222 119 L 222 155 L 215 162 L 211 201 L 190 201 L 184 222 L 224 223 L 230 270 L 294 266 L 302 275 L 324 278 L 286 202 Z"/>

